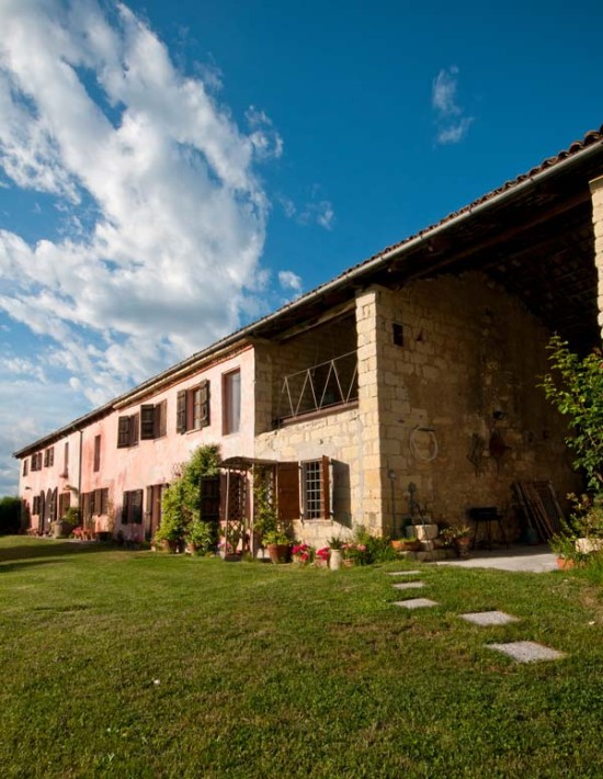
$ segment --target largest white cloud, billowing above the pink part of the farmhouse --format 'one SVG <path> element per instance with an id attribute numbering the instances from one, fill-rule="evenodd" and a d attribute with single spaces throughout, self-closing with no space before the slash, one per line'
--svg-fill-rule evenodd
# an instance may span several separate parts
<path id="1" fill-rule="evenodd" d="M 65 230 L 34 246 L 0 232 L 0 311 L 55 343 L 69 418 L 79 392 L 101 403 L 258 306 L 269 203 L 254 167 L 283 142 L 255 109 L 242 132 L 207 71 L 180 72 L 125 4 L 2 0 L 0 29 L 0 171 L 49 193 Z"/>

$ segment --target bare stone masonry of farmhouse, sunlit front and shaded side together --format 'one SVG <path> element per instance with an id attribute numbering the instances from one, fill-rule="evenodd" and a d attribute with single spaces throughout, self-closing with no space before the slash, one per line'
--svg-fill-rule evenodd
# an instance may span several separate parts
<path id="1" fill-rule="evenodd" d="M 487 275 L 373 286 L 356 296 L 354 330 L 357 409 L 266 426 L 255 437 L 258 458 L 327 455 L 348 468 L 349 516 L 335 526 L 397 534 L 413 484 L 426 518 L 460 524 L 469 507 L 497 506 L 514 535 L 513 482 L 550 479 L 561 501 L 579 488 L 565 420 L 538 387 L 549 334 Z M 257 351 L 257 382 L 274 385 L 283 346 Z M 268 396 L 258 395 L 266 418 Z M 335 527 L 309 524 L 300 537 L 312 542 Z"/>

